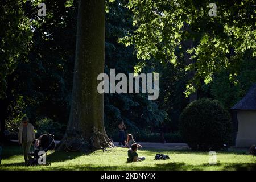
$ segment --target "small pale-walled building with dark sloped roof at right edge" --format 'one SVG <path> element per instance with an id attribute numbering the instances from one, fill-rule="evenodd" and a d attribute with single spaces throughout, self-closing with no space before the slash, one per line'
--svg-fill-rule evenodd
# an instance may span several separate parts
<path id="1" fill-rule="evenodd" d="M 231 109 L 236 113 L 236 147 L 256 144 L 256 84 Z"/>

